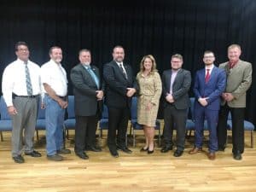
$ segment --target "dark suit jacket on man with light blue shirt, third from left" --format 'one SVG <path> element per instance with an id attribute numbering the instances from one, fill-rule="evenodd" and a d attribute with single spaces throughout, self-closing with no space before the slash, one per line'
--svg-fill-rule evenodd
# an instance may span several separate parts
<path id="1" fill-rule="evenodd" d="M 96 66 L 90 67 L 100 80 L 99 69 Z M 73 84 L 75 114 L 79 116 L 101 114 L 102 102 L 98 102 L 96 99 L 96 90 L 98 88 L 95 80 L 81 63 L 73 67 L 70 79 Z M 104 91 L 104 87 L 100 87 L 100 90 Z"/>

